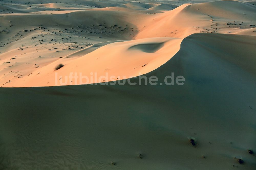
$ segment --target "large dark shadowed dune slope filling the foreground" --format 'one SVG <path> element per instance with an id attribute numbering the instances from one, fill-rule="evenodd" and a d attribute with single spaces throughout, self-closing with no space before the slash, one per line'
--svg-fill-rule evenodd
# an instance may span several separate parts
<path id="1" fill-rule="evenodd" d="M 185 38 L 172 59 L 146 74 L 163 82 L 174 72 L 183 86 L 0 88 L 1 169 L 253 170 L 255 42 Z"/>

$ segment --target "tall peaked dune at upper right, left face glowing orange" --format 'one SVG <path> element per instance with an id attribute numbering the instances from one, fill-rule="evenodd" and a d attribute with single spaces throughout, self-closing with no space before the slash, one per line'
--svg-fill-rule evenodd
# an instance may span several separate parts
<path id="1" fill-rule="evenodd" d="M 153 16 L 140 28 L 136 39 L 148 36 L 185 38 L 198 32 L 234 33 L 254 27 L 250 25 L 256 22 L 255 11 L 254 5 L 238 1 L 184 4 Z"/>

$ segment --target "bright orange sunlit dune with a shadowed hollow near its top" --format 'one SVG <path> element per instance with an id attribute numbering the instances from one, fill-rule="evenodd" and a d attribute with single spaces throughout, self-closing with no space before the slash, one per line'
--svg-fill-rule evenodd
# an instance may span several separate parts
<path id="1" fill-rule="evenodd" d="M 68 58 L 58 59 L 45 67 L 36 69 L 35 72 L 32 72 L 32 75 L 23 81 L 20 81 L 20 78 L 16 78 L 8 85 L 12 86 L 14 84 L 16 87 L 75 85 L 98 83 L 106 80 L 122 80 L 139 76 L 167 62 L 178 52 L 181 41 L 182 39 L 150 38 L 115 42 L 97 50 L 93 49 L 90 53 L 81 50 L 81 52 L 69 55 Z M 91 48 L 88 48 L 91 51 Z M 106 51 L 109 51 L 109 53 L 106 53 Z M 80 55 L 83 53 L 88 54 L 77 58 L 77 53 L 80 53 Z M 64 64 L 65 67 L 55 71 L 54 68 L 59 63 Z M 92 65 L 91 63 L 94 64 Z M 74 79 L 67 80 L 65 76 L 70 74 L 70 70 L 74 70 L 73 72 L 78 75 L 82 73 L 82 76 L 87 77 L 90 77 L 91 73 L 97 73 L 97 75 L 92 81 L 86 81 L 85 79 L 81 82 Z M 38 72 L 40 74 L 37 74 Z M 58 80 L 56 83 L 56 74 L 62 77 L 61 82 Z M 108 75 L 106 76 L 106 74 Z"/>

